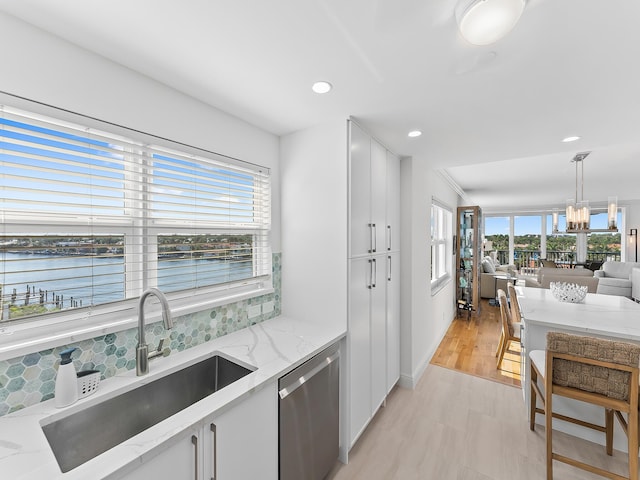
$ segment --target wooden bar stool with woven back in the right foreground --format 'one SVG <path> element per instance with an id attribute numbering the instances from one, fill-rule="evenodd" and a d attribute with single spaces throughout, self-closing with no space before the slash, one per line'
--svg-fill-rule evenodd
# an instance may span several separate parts
<path id="1" fill-rule="evenodd" d="M 553 479 L 553 460 L 612 479 L 638 480 L 638 363 L 640 346 L 560 332 L 547 334 L 547 350 L 529 354 L 531 405 L 529 428 L 535 415 L 545 415 L 547 480 Z M 542 384 L 539 381 L 542 380 Z M 604 408 L 605 425 L 596 425 L 553 412 L 553 396 L 562 396 Z M 536 405 L 540 399 L 543 407 Z M 571 422 L 605 433 L 607 454 L 613 453 L 613 416 L 628 439 L 629 476 L 556 453 L 552 443 L 552 419 Z M 625 418 L 626 415 L 626 418 Z"/>

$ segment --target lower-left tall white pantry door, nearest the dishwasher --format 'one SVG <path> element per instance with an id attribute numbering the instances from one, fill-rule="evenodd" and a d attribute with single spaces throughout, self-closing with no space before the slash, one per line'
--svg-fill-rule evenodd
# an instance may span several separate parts
<path id="1" fill-rule="evenodd" d="M 371 418 L 372 259 L 349 261 L 349 441 L 353 445 Z"/>

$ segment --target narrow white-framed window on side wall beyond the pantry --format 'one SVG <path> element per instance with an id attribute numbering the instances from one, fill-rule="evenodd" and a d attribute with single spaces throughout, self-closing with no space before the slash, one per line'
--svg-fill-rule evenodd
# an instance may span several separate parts
<path id="1" fill-rule="evenodd" d="M 452 278 L 453 213 L 436 201 L 431 204 L 431 292 L 435 293 Z"/>

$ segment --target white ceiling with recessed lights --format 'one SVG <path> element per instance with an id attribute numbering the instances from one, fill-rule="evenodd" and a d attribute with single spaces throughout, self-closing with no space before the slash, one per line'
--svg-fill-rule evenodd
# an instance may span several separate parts
<path id="1" fill-rule="evenodd" d="M 529 0 L 494 45 L 456 0 L 0 0 L 28 23 L 267 131 L 352 115 L 486 210 L 640 199 L 640 2 Z M 311 92 L 328 80 L 327 95 Z M 407 138 L 411 129 L 424 132 Z M 582 138 L 561 143 L 569 135 Z"/>

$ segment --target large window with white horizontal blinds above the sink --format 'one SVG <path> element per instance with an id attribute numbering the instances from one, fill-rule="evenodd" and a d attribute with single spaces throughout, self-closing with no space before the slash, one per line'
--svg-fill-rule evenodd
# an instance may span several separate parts
<path id="1" fill-rule="evenodd" d="M 0 110 L 2 321 L 270 281 L 270 177 Z"/>

